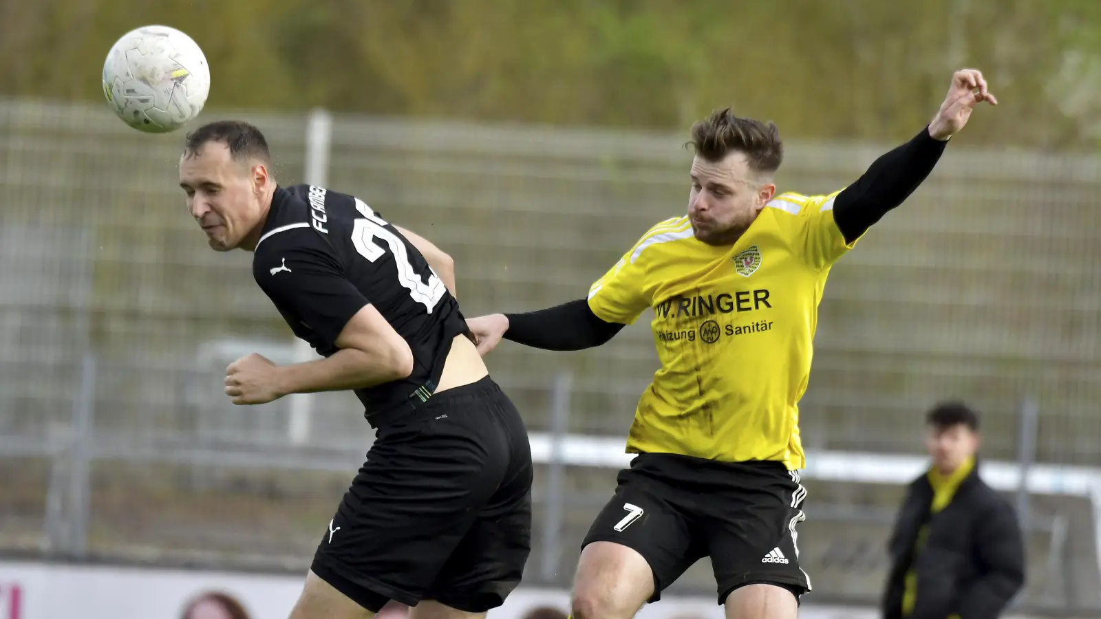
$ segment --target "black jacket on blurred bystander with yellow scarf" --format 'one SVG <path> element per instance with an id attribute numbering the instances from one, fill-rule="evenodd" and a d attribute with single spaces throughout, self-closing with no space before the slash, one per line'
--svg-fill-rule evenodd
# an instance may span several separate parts
<path id="1" fill-rule="evenodd" d="M 887 551 L 891 568 L 883 618 L 902 619 L 906 573 L 914 567 L 917 600 L 907 619 L 994 619 L 1024 586 L 1024 540 L 1016 512 L 986 486 L 978 465 L 951 502 L 929 514 L 933 486 L 927 476 L 909 485 Z M 915 562 L 918 531 L 928 523 Z"/>

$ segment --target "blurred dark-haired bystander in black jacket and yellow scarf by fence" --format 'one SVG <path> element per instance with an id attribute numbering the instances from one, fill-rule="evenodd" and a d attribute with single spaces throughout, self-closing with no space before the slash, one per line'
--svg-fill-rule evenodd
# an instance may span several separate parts
<path id="1" fill-rule="evenodd" d="M 927 415 L 929 470 L 906 491 L 889 542 L 884 619 L 993 619 L 1025 582 L 1016 512 L 979 477 L 979 415 L 942 402 Z"/>

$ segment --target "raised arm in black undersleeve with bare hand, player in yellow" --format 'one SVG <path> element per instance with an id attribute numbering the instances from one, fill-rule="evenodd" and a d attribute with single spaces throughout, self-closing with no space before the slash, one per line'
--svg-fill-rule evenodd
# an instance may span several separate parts
<path id="1" fill-rule="evenodd" d="M 933 172 L 952 135 L 967 124 L 975 105 L 998 99 L 977 69 L 952 76 L 948 95 L 929 124 L 913 140 L 882 155 L 832 200 L 833 220 L 852 243 L 887 211 L 901 205 Z"/>

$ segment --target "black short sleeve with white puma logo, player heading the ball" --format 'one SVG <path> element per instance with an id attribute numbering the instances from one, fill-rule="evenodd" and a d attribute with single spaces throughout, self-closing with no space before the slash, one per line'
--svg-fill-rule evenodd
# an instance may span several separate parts
<path id="1" fill-rule="evenodd" d="M 257 248 L 252 274 L 281 312 L 294 315 L 330 345 L 370 303 L 345 278 L 333 248 L 310 228 L 265 239 Z"/>

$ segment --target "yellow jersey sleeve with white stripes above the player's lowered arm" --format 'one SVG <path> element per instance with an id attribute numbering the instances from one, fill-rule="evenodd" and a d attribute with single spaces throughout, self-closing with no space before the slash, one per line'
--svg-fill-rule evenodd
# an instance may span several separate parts
<path id="1" fill-rule="evenodd" d="M 650 307 L 645 291 L 645 268 L 642 250 L 662 239 L 664 235 L 678 234 L 686 218 L 678 217 L 657 224 L 639 239 L 622 258 L 589 289 L 589 308 L 598 318 L 608 323 L 632 325 Z M 688 227 L 690 230 L 690 227 Z"/>

